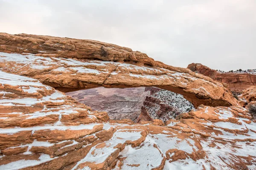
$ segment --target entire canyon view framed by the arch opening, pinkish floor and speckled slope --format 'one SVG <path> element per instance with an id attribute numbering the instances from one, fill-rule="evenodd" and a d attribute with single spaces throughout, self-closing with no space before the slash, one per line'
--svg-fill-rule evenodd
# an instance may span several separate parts
<path id="1" fill-rule="evenodd" d="M 95 111 L 107 112 L 113 120 L 166 122 L 194 109 L 182 95 L 155 87 L 93 88 L 66 94 Z"/>

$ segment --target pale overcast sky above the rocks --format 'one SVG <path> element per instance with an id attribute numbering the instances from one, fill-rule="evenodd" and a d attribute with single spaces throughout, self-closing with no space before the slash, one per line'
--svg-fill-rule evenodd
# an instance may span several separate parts
<path id="1" fill-rule="evenodd" d="M 256 0 L 0 0 L 0 32 L 99 40 L 177 67 L 256 68 Z"/>

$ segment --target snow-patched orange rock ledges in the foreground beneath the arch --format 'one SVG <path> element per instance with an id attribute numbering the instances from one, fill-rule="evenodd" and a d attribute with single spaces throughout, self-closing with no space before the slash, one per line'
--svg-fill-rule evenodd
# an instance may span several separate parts
<path id="1" fill-rule="evenodd" d="M 108 122 L 106 112 L 35 79 L 0 75 L 0 169 L 256 168 L 256 122 L 246 108 L 200 105 L 165 124 Z"/>

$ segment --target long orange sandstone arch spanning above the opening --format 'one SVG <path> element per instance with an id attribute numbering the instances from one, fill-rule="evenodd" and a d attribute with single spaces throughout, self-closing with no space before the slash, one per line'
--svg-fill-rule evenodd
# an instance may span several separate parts
<path id="1" fill-rule="evenodd" d="M 195 107 L 239 106 L 225 85 L 209 77 L 93 40 L 0 33 L 0 70 L 38 79 L 64 92 L 155 86 L 182 94 Z"/>

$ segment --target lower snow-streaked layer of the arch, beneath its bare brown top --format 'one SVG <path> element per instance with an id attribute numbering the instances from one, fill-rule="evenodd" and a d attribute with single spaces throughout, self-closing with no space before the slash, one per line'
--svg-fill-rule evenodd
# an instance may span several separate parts
<path id="1" fill-rule="evenodd" d="M 212 95 L 212 93 L 217 92 L 212 90 L 217 86 L 224 88 L 220 83 L 202 79 L 199 75 L 199 77 L 195 77 L 195 75 L 170 71 L 165 68 L 145 67 L 121 62 L 42 57 L 35 54 L 0 52 L 0 63 L 5 65 L 5 67 L 0 68 L 2 71 L 25 76 L 29 75 L 29 77 L 38 79 L 44 84 L 64 92 L 73 91 L 73 88 L 95 88 L 102 85 L 105 87 L 119 87 L 118 84 L 125 87 L 163 86 L 163 88 L 170 90 L 172 90 L 172 86 L 180 86 L 183 89 L 180 93 L 185 93 L 184 95 L 194 93 L 194 95 L 200 94 L 215 99 L 216 97 L 218 98 L 219 94 Z M 6 65 L 6 63 L 9 64 Z M 201 83 L 195 84 L 197 81 Z M 186 89 L 189 84 L 193 84 L 194 88 Z M 206 84 L 208 87 L 201 87 L 203 84 Z M 227 92 L 224 95 L 227 95 Z M 204 98 L 207 99 L 208 97 Z M 223 99 L 222 94 L 219 97 Z M 195 97 L 195 99 L 191 99 L 191 102 L 194 102 L 195 105 L 211 105 L 213 103 L 202 101 L 204 98 L 201 98 L 201 101 L 197 101 L 198 97 Z M 227 99 L 229 102 L 223 101 L 221 105 L 238 104 L 233 99 L 233 96 L 227 95 L 227 98 L 229 98 Z M 219 102 L 220 100 L 218 99 L 217 101 Z"/>

